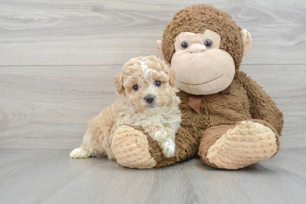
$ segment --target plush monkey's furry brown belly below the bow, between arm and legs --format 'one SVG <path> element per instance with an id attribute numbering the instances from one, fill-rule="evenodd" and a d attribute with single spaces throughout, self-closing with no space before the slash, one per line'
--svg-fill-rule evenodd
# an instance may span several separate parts
<path id="1" fill-rule="evenodd" d="M 182 126 L 195 130 L 205 130 L 211 126 L 234 125 L 239 121 L 251 119 L 250 104 L 243 86 L 234 79 L 231 93 L 204 95 L 200 113 L 188 105 L 189 95 L 179 93 L 182 108 Z"/>

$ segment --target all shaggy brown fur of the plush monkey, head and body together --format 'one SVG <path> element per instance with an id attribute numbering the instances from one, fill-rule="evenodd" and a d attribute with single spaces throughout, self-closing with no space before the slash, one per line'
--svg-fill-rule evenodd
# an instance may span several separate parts
<path id="1" fill-rule="evenodd" d="M 165 60 L 171 62 L 172 55 L 175 53 L 175 37 L 178 34 L 184 31 L 201 33 L 206 29 L 220 34 L 220 49 L 228 52 L 234 59 L 236 74 L 231 83 L 231 93 L 204 95 L 200 114 L 188 105 L 189 94 L 183 91 L 178 93 L 183 115 L 181 128 L 176 134 L 175 155 L 172 158 L 165 158 L 163 154 L 160 154 L 161 151 L 157 148 L 156 142 L 148 138 L 150 153 L 157 162 L 155 168 L 164 167 L 194 155 L 200 145 L 201 138 L 201 141 L 205 140 L 199 147 L 201 159 L 206 164 L 217 167 L 207 160 L 206 154 L 209 147 L 229 127 L 234 127 L 240 121 L 250 119 L 262 120 L 261 123 L 276 130 L 279 149 L 278 135 L 281 135 L 280 132 L 283 128 L 283 114 L 269 95 L 262 90 L 262 87 L 244 72 L 238 71 L 244 46 L 240 34 L 241 28 L 232 20 L 230 14 L 205 4 L 181 9 L 165 27 L 162 40 Z M 224 131 L 221 131 L 222 128 Z M 211 134 L 210 132 L 215 129 L 220 131 L 217 134 Z M 206 140 L 207 135 L 209 135 L 209 140 Z"/>

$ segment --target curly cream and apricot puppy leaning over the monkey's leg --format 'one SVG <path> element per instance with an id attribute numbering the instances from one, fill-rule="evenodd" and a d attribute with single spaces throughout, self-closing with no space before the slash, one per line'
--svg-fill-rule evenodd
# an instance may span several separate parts
<path id="1" fill-rule="evenodd" d="M 164 149 L 165 156 L 171 157 L 181 122 L 174 71 L 155 56 L 138 57 L 124 65 L 115 81 L 119 98 L 89 122 L 83 144 L 70 157 L 116 159 L 111 141 L 121 125 L 142 127 Z"/>

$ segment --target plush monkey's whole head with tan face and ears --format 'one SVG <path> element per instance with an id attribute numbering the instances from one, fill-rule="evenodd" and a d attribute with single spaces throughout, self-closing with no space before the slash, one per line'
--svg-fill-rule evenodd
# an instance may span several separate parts
<path id="1" fill-rule="evenodd" d="M 251 44 L 249 32 L 230 14 L 198 4 L 174 15 L 156 48 L 175 71 L 178 88 L 207 95 L 230 85 Z"/>

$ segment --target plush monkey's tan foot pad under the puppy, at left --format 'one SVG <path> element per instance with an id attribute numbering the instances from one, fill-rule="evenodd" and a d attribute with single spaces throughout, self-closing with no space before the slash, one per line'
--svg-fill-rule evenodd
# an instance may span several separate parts
<path id="1" fill-rule="evenodd" d="M 156 161 L 149 152 L 147 135 L 131 126 L 120 126 L 111 143 L 117 162 L 129 168 L 153 168 Z"/>

